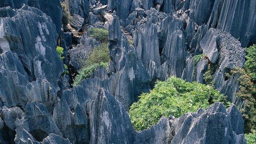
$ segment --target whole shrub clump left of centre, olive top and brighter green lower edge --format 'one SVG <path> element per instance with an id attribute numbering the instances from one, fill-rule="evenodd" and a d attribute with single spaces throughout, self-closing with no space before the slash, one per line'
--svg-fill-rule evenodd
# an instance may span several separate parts
<path id="1" fill-rule="evenodd" d="M 74 79 L 73 86 L 80 85 L 82 80 L 89 78 L 91 73 L 94 72 L 99 66 L 103 66 L 108 69 L 109 49 L 107 43 L 102 43 L 96 46 L 91 52 L 88 53 L 87 59 L 83 64 L 81 70 L 78 71 L 78 75 Z"/>

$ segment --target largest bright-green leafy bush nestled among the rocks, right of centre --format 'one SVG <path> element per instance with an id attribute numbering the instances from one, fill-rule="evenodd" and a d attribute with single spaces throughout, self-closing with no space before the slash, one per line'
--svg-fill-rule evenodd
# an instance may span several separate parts
<path id="1" fill-rule="evenodd" d="M 214 102 L 228 105 L 226 96 L 212 86 L 186 82 L 180 78 L 156 82 L 150 93 L 143 93 L 138 102 L 130 106 L 130 119 L 135 130 L 144 130 L 157 124 L 161 116 L 179 117 L 186 112 L 208 108 Z"/>

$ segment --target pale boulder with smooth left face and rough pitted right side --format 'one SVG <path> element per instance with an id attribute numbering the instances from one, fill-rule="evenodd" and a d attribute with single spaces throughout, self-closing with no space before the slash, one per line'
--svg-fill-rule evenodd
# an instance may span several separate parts
<path id="1" fill-rule="evenodd" d="M 236 66 L 242 68 L 244 64 L 244 48 L 227 32 L 210 28 L 200 41 L 200 46 L 209 60 L 220 66 L 220 71 L 225 72 Z"/>

